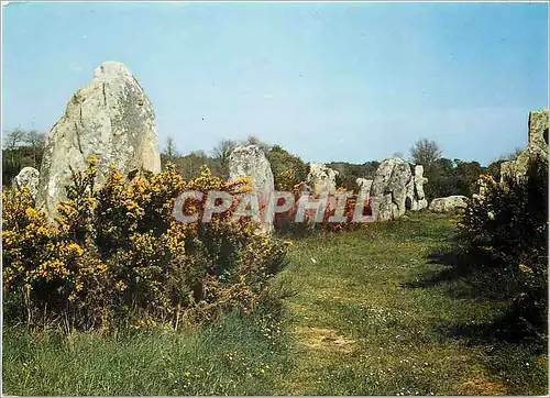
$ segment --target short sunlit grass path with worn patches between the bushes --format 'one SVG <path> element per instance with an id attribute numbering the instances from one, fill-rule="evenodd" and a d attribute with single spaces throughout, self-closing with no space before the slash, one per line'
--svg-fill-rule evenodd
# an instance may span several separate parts
<path id="1" fill-rule="evenodd" d="M 506 395 L 490 371 L 492 350 L 452 335 L 491 319 L 501 303 L 477 302 L 461 280 L 422 285 L 449 266 L 448 219 L 416 217 L 369 231 L 298 240 L 285 278 L 298 341 L 289 395 Z M 419 284 L 420 283 L 420 284 Z M 490 361 L 488 361 L 490 362 Z"/>

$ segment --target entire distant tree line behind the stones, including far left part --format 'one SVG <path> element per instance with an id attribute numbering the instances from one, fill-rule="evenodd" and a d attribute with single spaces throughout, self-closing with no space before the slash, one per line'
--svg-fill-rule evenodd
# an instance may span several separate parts
<path id="1" fill-rule="evenodd" d="M 2 184 L 9 185 L 13 177 L 26 166 L 40 168 L 46 134 L 36 130 L 25 131 L 13 129 L 4 134 L 2 147 Z M 174 137 L 168 136 L 163 145 L 161 162 L 176 165 L 179 174 L 186 178 L 195 178 L 200 174 L 200 167 L 207 165 L 215 176 L 229 177 L 229 156 L 239 145 L 258 145 L 265 152 L 273 169 L 275 184 L 278 188 L 289 188 L 289 185 L 306 179 L 308 165 L 299 156 L 289 153 L 279 145 L 271 145 L 254 135 L 244 140 L 220 140 L 220 142 L 207 153 L 205 151 L 193 151 L 183 154 L 177 148 Z M 501 164 L 517 156 L 519 150 L 492 162 L 488 166 L 482 166 L 479 162 L 468 162 L 459 158 L 450 159 L 443 157 L 442 151 L 436 141 L 421 139 L 410 148 L 407 161 L 422 165 L 428 184 L 425 186 L 428 198 L 446 197 L 450 195 L 472 196 L 476 194 L 475 181 L 480 175 L 487 174 L 496 180 L 501 178 Z M 397 155 L 396 155 L 397 156 Z M 398 154 L 399 157 L 405 156 Z M 356 178 L 374 178 L 380 165 L 377 161 L 369 161 L 362 164 L 349 162 L 331 162 L 327 166 L 339 172 L 337 185 L 349 190 L 356 189 Z"/>

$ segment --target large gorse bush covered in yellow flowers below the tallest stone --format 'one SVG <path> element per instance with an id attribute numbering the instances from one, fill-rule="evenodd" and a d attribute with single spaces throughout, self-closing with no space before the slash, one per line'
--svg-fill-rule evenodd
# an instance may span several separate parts
<path id="1" fill-rule="evenodd" d="M 183 191 L 244 194 L 245 178 L 226 183 L 204 168 L 186 181 L 168 165 L 132 180 L 112 169 L 100 187 L 95 179 L 90 158 L 85 172 L 73 173 L 55 223 L 26 189 L 2 191 L 6 321 L 177 328 L 230 308 L 250 310 L 285 265 L 285 244 L 257 234 L 250 220 L 232 222 L 231 209 L 210 223 L 172 215 Z M 202 204 L 186 202 L 184 210 L 201 213 Z"/>

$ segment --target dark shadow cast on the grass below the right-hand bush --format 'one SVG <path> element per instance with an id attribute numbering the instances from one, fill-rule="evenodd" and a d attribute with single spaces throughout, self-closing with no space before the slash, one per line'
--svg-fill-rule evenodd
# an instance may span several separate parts
<path id="1" fill-rule="evenodd" d="M 529 344 L 536 351 L 547 347 L 547 317 L 529 311 L 532 302 L 512 301 L 518 297 L 515 280 L 505 277 L 491 253 L 451 250 L 431 253 L 427 264 L 441 265 L 442 270 L 426 273 L 420 280 L 403 284 L 404 288 L 430 288 L 444 285 L 449 295 L 474 301 L 509 302 L 507 309 L 484 323 L 455 323 L 436 327 L 438 333 L 450 339 L 464 339 L 468 343 Z M 544 294 L 544 292 L 541 292 Z M 535 298 L 542 301 L 542 297 Z"/>

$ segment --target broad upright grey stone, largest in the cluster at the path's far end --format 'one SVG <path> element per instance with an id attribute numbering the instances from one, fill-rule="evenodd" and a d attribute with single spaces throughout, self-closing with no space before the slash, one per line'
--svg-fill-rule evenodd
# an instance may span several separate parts
<path id="1" fill-rule="evenodd" d="M 398 157 L 383 161 L 371 187 L 371 208 L 375 220 L 395 220 L 405 214 L 406 198 L 413 174 L 407 162 Z"/>

